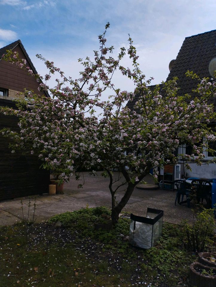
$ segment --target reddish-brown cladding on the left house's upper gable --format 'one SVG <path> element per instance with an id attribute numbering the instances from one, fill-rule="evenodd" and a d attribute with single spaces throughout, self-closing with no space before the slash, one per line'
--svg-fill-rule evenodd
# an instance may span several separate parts
<path id="1" fill-rule="evenodd" d="M 26 59 L 27 66 L 30 67 L 30 63 L 25 57 L 20 45 L 17 45 L 13 51 L 19 53 L 19 57 Z M 36 94 L 45 94 L 38 91 L 39 83 L 36 81 L 35 77 L 31 77 L 26 70 L 17 67 L 15 64 L 10 62 L 0 60 L 0 87 L 5 89 L 10 89 L 13 91 L 23 92 L 24 88 L 27 90 L 33 90 Z"/>

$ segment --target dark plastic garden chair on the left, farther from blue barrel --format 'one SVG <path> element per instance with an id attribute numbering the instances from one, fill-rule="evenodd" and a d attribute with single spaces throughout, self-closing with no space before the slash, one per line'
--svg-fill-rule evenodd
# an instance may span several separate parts
<path id="1" fill-rule="evenodd" d="M 191 193 L 191 184 L 184 181 L 184 180 L 175 180 L 174 185 L 177 188 L 176 198 L 175 198 L 175 205 L 176 201 L 178 201 L 178 204 L 182 204 L 187 202 L 188 207 L 190 207 L 190 198 L 189 194 Z M 186 200 L 183 201 L 184 196 L 186 195 Z M 180 202 L 180 197 L 182 196 L 182 201 Z"/>

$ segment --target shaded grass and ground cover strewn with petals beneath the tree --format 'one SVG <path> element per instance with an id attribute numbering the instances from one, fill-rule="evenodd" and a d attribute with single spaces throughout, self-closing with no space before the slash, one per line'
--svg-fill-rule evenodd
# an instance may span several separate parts
<path id="1" fill-rule="evenodd" d="M 95 231 L 102 214 L 109 216 L 110 210 L 66 212 L 33 225 L 28 234 L 24 225 L 1 228 L 0 287 L 188 286 L 195 256 L 181 246 L 178 226 L 164 224 L 157 246 L 138 250 L 125 238 L 127 218 L 110 232 Z M 55 228 L 57 221 L 62 228 Z"/>

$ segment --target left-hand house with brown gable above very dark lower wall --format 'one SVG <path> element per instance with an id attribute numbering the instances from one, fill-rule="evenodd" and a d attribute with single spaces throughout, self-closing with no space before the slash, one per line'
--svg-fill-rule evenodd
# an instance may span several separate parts
<path id="1" fill-rule="evenodd" d="M 20 40 L 0 48 L 0 106 L 9 106 L 16 109 L 13 101 L 24 97 L 24 88 L 33 90 L 37 94 L 39 83 L 30 76 L 27 71 L 22 70 L 15 64 L 4 61 L 1 57 L 6 50 L 19 53 L 19 57 L 25 59 L 27 66 L 36 74 L 37 71 L 31 62 L 25 48 Z M 48 93 L 45 93 L 49 97 Z M 0 129 L 4 127 L 19 130 L 17 118 L 0 114 Z M 48 192 L 49 171 L 39 169 L 41 163 L 36 155 L 23 155 L 22 152 L 11 153 L 9 149 L 10 140 L 0 134 L 0 201 L 13 199 L 19 196 L 27 196 Z"/>

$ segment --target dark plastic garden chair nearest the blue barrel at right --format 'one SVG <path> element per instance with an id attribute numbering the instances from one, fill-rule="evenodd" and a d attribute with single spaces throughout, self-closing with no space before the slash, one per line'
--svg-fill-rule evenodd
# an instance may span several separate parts
<path id="1" fill-rule="evenodd" d="M 206 200 L 207 208 L 211 207 L 211 196 L 212 196 L 212 184 L 208 180 L 204 179 L 194 179 L 191 182 L 191 185 L 196 187 L 196 196 L 197 202 L 200 202 L 200 199 L 203 203 L 203 199 Z"/>

